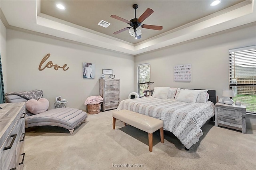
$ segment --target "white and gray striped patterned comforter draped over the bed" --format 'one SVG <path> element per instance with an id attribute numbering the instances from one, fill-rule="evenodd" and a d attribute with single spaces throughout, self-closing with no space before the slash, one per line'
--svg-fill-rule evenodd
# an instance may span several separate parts
<path id="1" fill-rule="evenodd" d="M 214 116 L 214 104 L 185 103 L 174 99 L 143 97 L 120 102 L 117 110 L 127 109 L 160 119 L 164 129 L 172 132 L 186 148 L 198 142 L 203 135 L 202 125 Z"/>

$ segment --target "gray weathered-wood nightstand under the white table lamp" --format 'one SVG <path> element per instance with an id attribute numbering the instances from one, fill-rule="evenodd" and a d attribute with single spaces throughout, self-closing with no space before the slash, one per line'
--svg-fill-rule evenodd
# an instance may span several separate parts
<path id="1" fill-rule="evenodd" d="M 240 130 L 246 134 L 246 106 L 216 103 L 215 126 Z"/>

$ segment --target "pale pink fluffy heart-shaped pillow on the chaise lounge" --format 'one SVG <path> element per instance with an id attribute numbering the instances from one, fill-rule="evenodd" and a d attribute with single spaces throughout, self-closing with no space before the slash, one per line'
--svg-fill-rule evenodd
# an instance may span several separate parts
<path id="1" fill-rule="evenodd" d="M 26 102 L 26 109 L 30 111 L 30 113 L 38 114 L 47 111 L 49 107 L 49 101 L 45 98 L 30 99 Z"/>

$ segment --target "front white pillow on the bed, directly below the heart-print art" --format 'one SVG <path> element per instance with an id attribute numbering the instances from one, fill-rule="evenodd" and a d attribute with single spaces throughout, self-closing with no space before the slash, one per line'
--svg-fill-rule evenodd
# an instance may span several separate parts
<path id="1" fill-rule="evenodd" d="M 198 90 L 180 90 L 180 94 L 177 97 L 177 101 L 187 102 L 187 103 L 196 103 L 196 99 L 199 95 Z"/>

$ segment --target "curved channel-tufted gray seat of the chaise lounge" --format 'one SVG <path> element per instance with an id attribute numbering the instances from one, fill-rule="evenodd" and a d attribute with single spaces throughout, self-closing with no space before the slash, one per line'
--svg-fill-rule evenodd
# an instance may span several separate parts
<path id="1" fill-rule="evenodd" d="M 87 113 L 75 108 L 58 108 L 40 114 L 26 117 L 25 128 L 36 126 L 57 126 L 69 130 L 73 134 L 74 128 L 85 122 Z"/>

